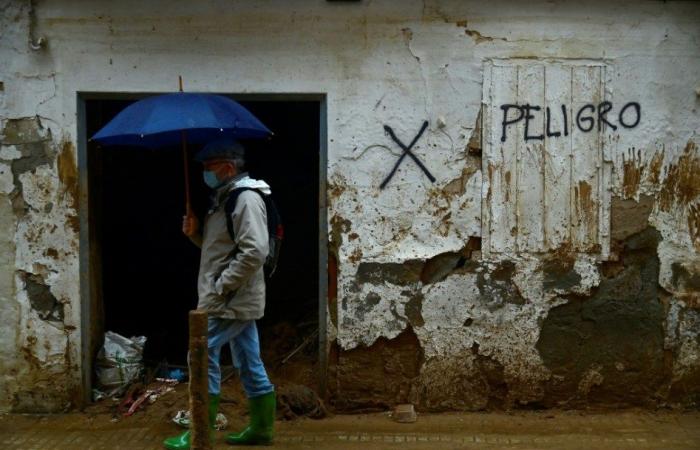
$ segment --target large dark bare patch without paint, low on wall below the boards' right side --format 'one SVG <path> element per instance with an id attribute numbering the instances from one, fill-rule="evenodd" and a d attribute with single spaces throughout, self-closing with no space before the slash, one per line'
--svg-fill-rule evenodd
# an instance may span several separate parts
<path id="1" fill-rule="evenodd" d="M 667 377 L 658 239 L 651 228 L 630 237 L 624 270 L 549 311 L 537 344 L 554 376 L 546 386 L 548 406 L 653 403 Z"/>

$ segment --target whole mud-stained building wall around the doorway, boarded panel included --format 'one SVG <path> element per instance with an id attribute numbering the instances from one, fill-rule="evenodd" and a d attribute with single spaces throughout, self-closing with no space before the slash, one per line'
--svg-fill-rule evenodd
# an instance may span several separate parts
<path id="1" fill-rule="evenodd" d="M 1 410 L 62 409 L 80 385 L 77 93 L 171 91 L 178 74 L 191 91 L 327 94 L 339 409 L 696 404 L 696 5 L 34 4 L 0 8 Z M 569 66 L 588 74 L 580 98 L 518 88 Z M 618 130 L 599 111 L 571 129 L 605 101 Z M 629 102 L 633 128 L 615 119 Z M 508 103 L 541 108 L 507 127 L 512 147 Z"/>

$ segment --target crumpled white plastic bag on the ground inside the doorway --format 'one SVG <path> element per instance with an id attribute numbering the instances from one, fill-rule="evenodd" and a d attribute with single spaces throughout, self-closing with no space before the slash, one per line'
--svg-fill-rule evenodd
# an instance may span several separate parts
<path id="1" fill-rule="evenodd" d="M 121 395 L 143 374 L 145 336 L 127 339 L 112 331 L 105 333 L 105 343 L 97 354 L 97 381 L 108 396 Z"/>

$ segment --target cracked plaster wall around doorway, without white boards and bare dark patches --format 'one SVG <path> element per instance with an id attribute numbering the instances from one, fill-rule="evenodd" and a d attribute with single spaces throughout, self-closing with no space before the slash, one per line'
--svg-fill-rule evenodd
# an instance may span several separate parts
<path id="1" fill-rule="evenodd" d="M 612 220 L 615 205 L 638 214 L 641 208 L 637 232 L 648 224 L 660 234 L 658 327 L 672 361 L 660 398 L 677 392 L 685 400 L 688 387 L 697 388 L 700 192 L 687 175 L 698 160 L 697 5 L 167 5 L 37 2 L 32 29 L 25 4 L 0 6 L 7 61 L 0 65 L 0 129 L 21 126 L 32 134 L 5 133 L 0 153 L 0 353 L 7 361 L 0 410 L 59 409 L 80 384 L 76 93 L 172 91 L 177 75 L 189 91 L 327 93 L 329 238 L 338 261 L 329 317 L 341 358 L 378 339 L 391 348 L 393 338 L 412 331 L 416 339 L 401 342 L 418 343 L 422 366 L 401 372 L 402 400 L 432 409 L 480 409 L 493 399 L 505 406 L 543 402 L 558 376 L 538 350 L 550 312 L 597 295 L 606 273 L 624 269 L 566 252 L 486 259 L 470 244 L 482 236 L 486 187 L 477 116 L 483 65 L 494 58 L 605 61 L 613 69 L 606 89 L 642 104 L 642 124 L 620 133 L 611 152 L 609 188 L 619 203 Z M 39 36 L 44 48 L 31 50 L 30 37 Z M 406 158 L 380 190 L 400 155 L 383 125 L 408 143 L 424 120 L 430 125 L 414 151 L 436 182 Z M 618 259 L 627 238 L 618 240 Z M 395 271 L 359 282 L 362 264 Z M 28 279 L 48 288 L 40 303 L 60 304 L 61 320 L 35 309 Z M 571 375 L 582 386 L 572 395 L 585 400 L 605 383 L 597 368 Z M 460 389 L 443 386 L 443 374 Z M 62 382 L 49 386 L 58 376 Z M 343 383 L 336 380 L 339 395 Z"/>

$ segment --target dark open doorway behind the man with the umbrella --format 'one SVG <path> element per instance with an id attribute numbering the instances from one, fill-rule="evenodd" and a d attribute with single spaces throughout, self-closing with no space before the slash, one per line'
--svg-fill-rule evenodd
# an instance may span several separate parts
<path id="1" fill-rule="evenodd" d="M 86 99 L 92 136 L 134 100 Z M 277 272 L 267 284 L 259 322 L 263 356 L 274 372 L 294 358 L 314 373 L 319 325 L 319 185 L 321 101 L 239 100 L 273 132 L 244 141 L 251 177 L 267 181 L 285 225 Z M 190 156 L 199 148 L 190 146 Z M 147 150 L 87 143 L 91 270 L 90 334 L 99 348 L 105 331 L 146 336 L 147 365 L 186 364 L 187 313 L 197 304 L 199 249 L 181 233 L 184 177 L 179 148 Z M 202 217 L 209 190 L 191 163 L 192 202 Z M 228 357 L 228 352 L 222 352 Z M 299 381 L 299 380 L 295 380 Z M 309 381 L 312 381 L 311 379 Z M 317 380 L 313 379 L 315 383 Z"/>

